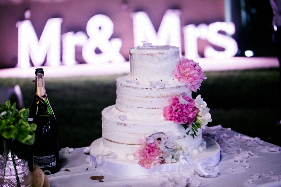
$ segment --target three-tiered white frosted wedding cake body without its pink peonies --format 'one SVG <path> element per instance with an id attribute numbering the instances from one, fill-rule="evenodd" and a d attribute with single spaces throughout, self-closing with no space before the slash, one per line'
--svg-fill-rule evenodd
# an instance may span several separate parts
<path id="1" fill-rule="evenodd" d="M 169 106 L 169 97 L 181 93 L 191 95 L 184 83 L 174 78 L 179 62 L 179 47 L 150 46 L 130 49 L 131 75 L 116 79 L 116 105 L 102 111 L 102 138 L 91 146 L 91 151 L 112 151 L 120 160 L 128 161 L 139 147 L 140 138 L 155 132 L 173 132 L 185 153 L 194 155 L 206 149 L 201 129 L 197 136 L 189 135 L 181 124 L 165 120 L 163 108 Z M 129 158 L 131 160 L 131 158 Z"/>

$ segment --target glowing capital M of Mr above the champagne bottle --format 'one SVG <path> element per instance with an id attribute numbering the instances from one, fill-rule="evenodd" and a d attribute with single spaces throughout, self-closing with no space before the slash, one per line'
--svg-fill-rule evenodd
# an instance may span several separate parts
<path id="1" fill-rule="evenodd" d="M 60 62 L 60 32 L 62 18 L 49 19 L 38 41 L 30 20 L 17 22 L 18 28 L 18 62 L 17 66 L 29 67 L 29 56 L 34 66 L 43 65 L 47 55 L 46 65 L 59 65 Z"/>

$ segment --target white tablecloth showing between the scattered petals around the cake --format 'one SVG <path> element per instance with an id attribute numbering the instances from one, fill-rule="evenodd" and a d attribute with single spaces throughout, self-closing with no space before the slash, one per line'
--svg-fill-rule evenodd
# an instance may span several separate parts
<path id="1" fill-rule="evenodd" d="M 239 133 L 217 129 L 221 134 L 229 135 L 230 138 L 237 137 Z M 241 135 L 244 136 L 244 135 Z M 89 143 L 90 144 L 90 143 Z M 278 152 L 261 151 L 256 146 L 247 146 L 245 143 L 239 143 L 242 151 L 252 151 L 259 156 L 249 156 L 247 163 L 249 167 L 243 167 L 245 170 L 232 172 L 229 168 L 235 168 L 239 163 L 234 161 L 237 154 L 221 152 L 219 167 L 219 175 L 215 178 L 200 177 L 202 187 L 242 187 L 242 186 L 259 186 L 259 187 L 277 187 L 281 186 L 281 148 L 268 142 L 261 143 L 262 146 L 270 148 L 278 147 Z M 158 178 L 136 178 L 114 175 L 106 173 L 102 170 L 93 168 L 91 164 L 86 163 L 86 155 L 83 153 L 83 148 L 76 148 L 70 154 L 60 152 L 61 170 L 51 176 L 48 176 L 52 187 L 61 186 L 114 186 L 114 187 L 150 187 L 160 186 Z M 65 171 L 66 169 L 70 171 Z M 253 179 L 250 174 L 258 175 L 259 179 Z M 274 176 L 270 179 L 268 175 Z M 104 175 L 103 182 L 91 180 L 91 176 Z M 280 180 L 278 180 L 278 178 Z M 253 179 L 253 182 L 247 180 Z"/>

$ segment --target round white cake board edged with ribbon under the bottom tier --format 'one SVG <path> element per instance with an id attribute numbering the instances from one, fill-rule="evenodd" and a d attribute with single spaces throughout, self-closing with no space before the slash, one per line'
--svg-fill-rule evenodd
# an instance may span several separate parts
<path id="1" fill-rule="evenodd" d="M 197 159 L 203 159 L 206 157 L 211 157 L 214 160 L 215 165 L 219 163 L 220 159 L 220 147 L 219 144 L 210 139 L 209 137 L 203 137 L 206 141 L 206 149 L 198 154 L 193 154 L 191 159 L 193 161 Z M 99 138 L 93 142 L 95 145 L 99 145 L 102 138 Z M 98 146 L 95 146 L 95 148 Z M 137 160 L 134 161 L 124 161 L 116 159 L 106 159 L 103 164 L 96 163 L 96 156 L 102 154 L 103 152 L 100 150 L 94 150 L 96 153 L 93 155 L 90 150 L 90 157 L 92 165 L 96 165 L 96 167 L 100 170 L 103 170 L 108 173 L 116 174 L 116 175 L 124 175 L 124 176 L 134 176 L 134 177 L 141 177 L 144 175 L 157 175 L 163 173 L 172 173 L 179 171 L 179 162 L 175 162 L 172 164 L 160 164 L 158 166 L 153 166 L 150 169 L 146 169 L 138 164 Z M 214 166 L 215 166 L 214 165 Z"/>

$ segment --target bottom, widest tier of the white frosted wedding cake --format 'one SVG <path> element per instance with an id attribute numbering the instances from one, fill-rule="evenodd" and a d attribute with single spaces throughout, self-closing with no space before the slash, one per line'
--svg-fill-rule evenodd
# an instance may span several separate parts
<path id="1" fill-rule="evenodd" d="M 198 149 L 202 143 L 201 129 L 196 132 L 197 137 L 193 139 L 191 133 L 187 135 L 181 124 L 168 120 L 120 120 L 112 113 L 110 106 L 102 111 L 102 144 L 100 149 L 113 151 L 118 158 L 126 159 L 127 153 L 133 153 L 140 146 L 139 138 L 148 137 L 155 132 L 173 132 L 178 145 L 185 147 L 185 150 Z M 198 151 L 199 152 L 199 151 Z"/>

